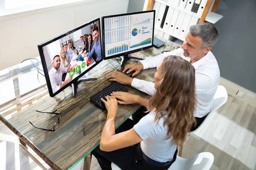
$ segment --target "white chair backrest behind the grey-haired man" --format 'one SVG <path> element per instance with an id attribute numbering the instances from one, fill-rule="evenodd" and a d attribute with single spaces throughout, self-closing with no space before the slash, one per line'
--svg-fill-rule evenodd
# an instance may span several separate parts
<path id="1" fill-rule="evenodd" d="M 210 113 L 206 116 L 204 119 L 204 122 L 209 118 L 209 115 L 215 112 L 218 108 L 220 108 L 222 105 L 224 105 L 227 102 L 227 90 L 224 88 L 222 85 L 218 85 L 217 91 L 213 96 L 212 99 L 212 106 Z M 204 122 L 201 123 L 201 125 L 194 131 L 191 131 L 190 134 L 195 133 L 203 124 Z"/>

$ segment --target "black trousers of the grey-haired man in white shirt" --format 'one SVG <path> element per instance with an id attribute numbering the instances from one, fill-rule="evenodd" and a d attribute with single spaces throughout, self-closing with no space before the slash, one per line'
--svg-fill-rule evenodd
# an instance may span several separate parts
<path id="1" fill-rule="evenodd" d="M 146 111 L 147 111 L 147 108 L 145 108 L 144 106 L 141 106 L 131 117 L 137 123 L 140 121 L 140 119 L 142 119 L 144 116 L 146 116 L 149 113 Z M 202 124 L 202 122 L 204 122 L 204 119 L 206 117 L 207 115 L 201 118 L 195 117 L 196 125 L 193 124 L 190 131 L 196 130 Z"/>

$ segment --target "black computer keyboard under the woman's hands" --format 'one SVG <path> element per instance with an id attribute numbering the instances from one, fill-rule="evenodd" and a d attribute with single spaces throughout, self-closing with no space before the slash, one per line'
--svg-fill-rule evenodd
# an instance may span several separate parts
<path id="1" fill-rule="evenodd" d="M 105 104 L 101 101 L 101 98 L 105 99 L 105 96 L 111 96 L 111 93 L 113 91 L 127 92 L 128 89 L 125 88 L 123 85 L 121 85 L 118 82 L 112 82 L 110 85 L 108 85 L 107 87 L 105 87 L 101 91 L 99 91 L 98 93 L 91 96 L 89 98 L 89 100 L 96 103 L 96 105 L 98 105 L 102 110 L 105 110 Z"/>

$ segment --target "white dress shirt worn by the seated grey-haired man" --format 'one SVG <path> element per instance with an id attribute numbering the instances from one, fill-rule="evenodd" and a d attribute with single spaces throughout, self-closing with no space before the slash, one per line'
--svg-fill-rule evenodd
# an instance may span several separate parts
<path id="1" fill-rule="evenodd" d="M 185 57 L 183 55 L 182 48 L 155 57 L 148 57 L 140 62 L 143 64 L 143 70 L 147 68 L 155 68 L 161 64 L 164 57 L 171 55 L 180 56 L 190 62 L 190 57 Z M 210 111 L 212 99 L 220 81 L 220 70 L 218 62 L 211 51 L 197 62 L 192 63 L 192 65 L 195 68 L 195 92 L 198 101 L 194 116 L 201 118 L 206 116 Z M 156 90 L 153 82 L 147 82 L 136 78 L 133 79 L 131 86 L 151 96 Z"/>

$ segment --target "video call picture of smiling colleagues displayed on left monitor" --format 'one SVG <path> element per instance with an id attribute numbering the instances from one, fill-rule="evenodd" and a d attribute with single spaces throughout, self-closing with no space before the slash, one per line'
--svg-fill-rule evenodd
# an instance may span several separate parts
<path id="1" fill-rule="evenodd" d="M 100 41 L 99 33 L 93 35 L 93 28 L 96 27 L 98 27 L 99 32 L 99 21 L 43 47 L 53 93 L 60 89 L 62 82 L 75 79 L 101 60 L 101 53 L 97 54 L 95 50 L 91 54 L 94 40 L 97 38 Z M 58 74 L 56 74 L 55 68 L 58 68 Z M 69 79 L 69 77 L 72 77 L 72 79 Z"/>

